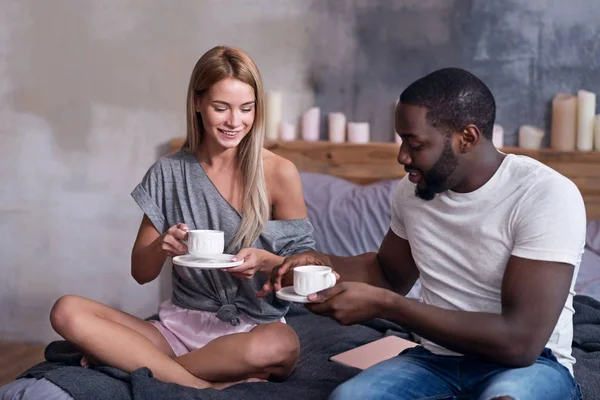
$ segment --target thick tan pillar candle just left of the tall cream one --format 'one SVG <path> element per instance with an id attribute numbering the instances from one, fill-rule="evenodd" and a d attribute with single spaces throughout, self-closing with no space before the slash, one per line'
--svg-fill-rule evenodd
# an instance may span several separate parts
<path id="1" fill-rule="evenodd" d="M 552 99 L 550 147 L 559 151 L 575 150 L 577 137 L 577 97 L 557 93 Z"/>

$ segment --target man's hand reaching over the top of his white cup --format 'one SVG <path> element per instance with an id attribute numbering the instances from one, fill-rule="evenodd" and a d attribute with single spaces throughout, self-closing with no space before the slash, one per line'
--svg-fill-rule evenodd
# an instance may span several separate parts
<path id="1" fill-rule="evenodd" d="M 265 282 L 262 290 L 256 295 L 258 297 L 264 297 L 271 292 L 281 290 L 284 286 L 292 286 L 294 282 L 292 275 L 293 269 L 302 265 L 325 265 L 333 267 L 327 254 L 319 253 L 317 251 L 294 254 L 283 260 L 283 263 L 280 266 L 273 268 L 270 278 Z M 339 279 L 339 276 L 337 276 L 337 278 Z"/>

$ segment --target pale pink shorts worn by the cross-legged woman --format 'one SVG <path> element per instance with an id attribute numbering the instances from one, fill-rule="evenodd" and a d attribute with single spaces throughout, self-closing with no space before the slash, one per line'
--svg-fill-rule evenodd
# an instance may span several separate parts
<path id="1" fill-rule="evenodd" d="M 175 356 L 179 357 L 204 347 L 208 342 L 233 333 L 250 332 L 258 324 L 245 315 L 239 315 L 239 324 L 233 326 L 221 321 L 209 311 L 188 310 L 167 300 L 158 308 L 160 321 L 150 321 L 167 340 Z M 285 323 L 285 318 L 281 318 Z"/>

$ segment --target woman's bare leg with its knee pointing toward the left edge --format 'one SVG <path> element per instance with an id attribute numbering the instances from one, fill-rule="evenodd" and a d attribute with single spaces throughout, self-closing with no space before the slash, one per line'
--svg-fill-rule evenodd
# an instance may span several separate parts
<path id="1" fill-rule="evenodd" d="M 79 296 L 63 296 L 50 313 L 54 330 L 85 354 L 126 372 L 148 367 L 163 381 L 211 387 L 173 360 L 173 351 L 151 323 Z"/>

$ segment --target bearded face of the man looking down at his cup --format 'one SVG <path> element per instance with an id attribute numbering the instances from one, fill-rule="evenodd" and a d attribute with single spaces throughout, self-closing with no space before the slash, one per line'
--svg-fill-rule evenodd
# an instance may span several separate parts
<path id="1" fill-rule="evenodd" d="M 416 184 L 416 195 L 432 200 L 436 193 L 451 188 L 458 158 L 452 149 L 451 134 L 432 127 L 427 109 L 399 103 L 396 108 L 396 132 L 402 137 L 398 162 L 404 165 L 408 179 Z M 454 179 L 453 179 L 454 178 Z"/>

